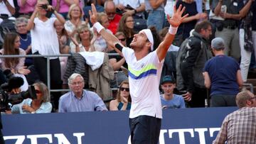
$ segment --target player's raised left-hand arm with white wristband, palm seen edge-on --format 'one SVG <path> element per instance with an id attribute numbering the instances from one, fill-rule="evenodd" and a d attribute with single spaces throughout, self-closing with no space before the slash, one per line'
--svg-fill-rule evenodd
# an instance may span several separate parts
<path id="1" fill-rule="evenodd" d="M 103 26 L 100 25 L 99 22 L 97 22 L 97 11 L 95 8 L 95 5 L 92 4 L 92 11 L 89 11 L 90 14 L 90 21 L 93 24 L 93 28 L 96 28 L 97 32 L 102 35 L 102 37 L 107 41 L 107 43 L 114 48 L 114 50 L 119 53 L 119 55 L 122 55 L 122 51 L 117 49 L 115 45 L 118 43 L 122 47 L 122 43 L 119 42 L 118 38 L 115 37 L 112 33 L 108 33 Z"/>

